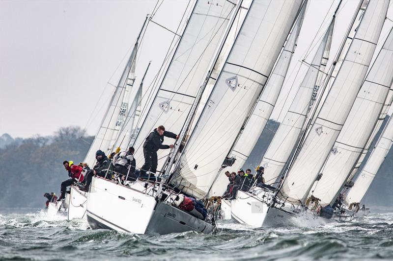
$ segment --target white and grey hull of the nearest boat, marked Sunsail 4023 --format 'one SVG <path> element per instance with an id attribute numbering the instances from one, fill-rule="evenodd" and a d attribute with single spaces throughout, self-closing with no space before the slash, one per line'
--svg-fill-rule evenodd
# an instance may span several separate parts
<path id="1" fill-rule="evenodd" d="M 120 232 L 164 235 L 197 231 L 210 233 L 213 226 L 149 195 L 144 181 L 130 187 L 93 177 L 87 195 L 87 221 L 92 229 L 104 228 Z M 150 191 L 149 191 L 150 190 Z M 146 192 L 146 193 L 145 193 Z"/>

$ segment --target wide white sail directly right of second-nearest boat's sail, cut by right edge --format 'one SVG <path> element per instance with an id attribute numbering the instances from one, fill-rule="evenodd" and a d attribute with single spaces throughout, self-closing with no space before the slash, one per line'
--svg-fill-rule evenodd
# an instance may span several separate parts
<path id="1" fill-rule="evenodd" d="M 393 31 L 389 33 L 368 72 L 348 118 L 316 182 L 312 195 L 320 204 L 336 200 L 345 181 L 370 137 L 393 82 Z"/>

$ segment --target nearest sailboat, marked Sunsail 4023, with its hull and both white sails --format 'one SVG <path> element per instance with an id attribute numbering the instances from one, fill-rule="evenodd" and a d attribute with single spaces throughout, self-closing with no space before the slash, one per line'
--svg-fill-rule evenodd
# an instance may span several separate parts
<path id="1" fill-rule="evenodd" d="M 204 218 L 177 208 L 179 200 L 185 196 L 192 196 L 196 200 L 205 198 L 216 176 L 215 169 L 225 160 L 225 153 L 221 153 L 223 149 L 225 151 L 224 146 L 215 152 L 217 159 L 214 162 L 202 162 L 199 163 L 200 168 L 194 167 L 198 165 L 195 163 L 199 161 L 198 156 L 210 155 L 206 149 L 197 151 L 198 143 L 214 143 L 212 141 L 217 137 L 204 135 L 211 131 L 211 123 L 217 133 L 223 133 L 217 118 L 237 116 L 240 119 L 237 125 L 245 120 L 266 83 L 302 1 L 252 2 L 208 101 L 201 115 L 195 119 L 206 82 L 241 7 L 241 1 L 237 4 L 230 1 L 215 3 L 213 1 L 210 6 L 210 1 L 196 2 L 166 76 L 134 142 L 138 159 L 137 155 L 141 156 L 141 144 L 156 127 L 156 122 L 164 123 L 169 130 L 180 133 L 169 157 L 164 157 L 160 163 L 162 182 L 136 180 L 125 186 L 103 178 L 93 178 L 87 198 L 87 220 L 92 228 L 149 235 L 190 230 L 210 233 L 214 229 L 217 216 L 214 203 Z M 266 32 L 272 37 L 265 37 Z M 189 48 L 190 44 L 193 48 Z M 235 105 L 239 98 L 251 105 L 240 108 L 235 114 L 226 110 L 226 101 Z M 193 120 L 197 123 L 192 129 Z M 224 140 L 231 140 L 230 143 L 236 138 L 229 132 L 224 136 Z M 207 148 L 211 149 L 216 147 Z M 189 164 L 196 170 L 192 176 L 189 175 Z"/>

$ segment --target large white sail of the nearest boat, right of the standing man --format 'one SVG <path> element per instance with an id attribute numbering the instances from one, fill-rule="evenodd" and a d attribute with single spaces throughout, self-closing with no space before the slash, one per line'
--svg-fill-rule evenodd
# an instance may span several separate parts
<path id="1" fill-rule="evenodd" d="M 173 185 L 204 197 L 253 108 L 299 12 L 301 0 L 253 1 L 180 158 Z"/>

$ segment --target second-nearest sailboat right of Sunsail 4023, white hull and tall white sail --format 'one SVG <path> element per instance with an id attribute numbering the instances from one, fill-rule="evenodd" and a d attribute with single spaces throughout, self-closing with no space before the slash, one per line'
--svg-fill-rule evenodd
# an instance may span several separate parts
<path id="1" fill-rule="evenodd" d="M 247 213 L 243 214 L 245 218 L 255 216 L 254 219 L 249 218 L 248 221 L 243 220 L 244 223 L 249 223 L 253 226 L 293 225 L 292 217 L 300 216 L 301 212 L 307 214 L 307 212 L 302 210 L 304 206 L 307 205 L 306 203 L 309 202 L 307 201 L 307 195 L 309 194 L 310 187 L 313 181 L 318 177 L 317 168 L 318 166 L 322 167 L 328 156 L 327 154 L 330 152 L 329 147 L 332 146 L 337 139 L 343 121 L 345 121 L 363 81 L 364 76 L 362 77 L 361 75 L 365 75 L 375 49 L 375 45 L 362 45 L 362 42 L 370 42 L 369 40 L 372 40 L 371 43 L 376 43 L 388 8 L 388 3 L 386 2 L 371 1 L 366 7 L 362 6 L 362 3 L 363 1 L 359 3 L 357 10 L 365 8 L 363 19 L 360 25 L 357 26 L 355 37 L 351 37 L 351 40 L 354 40 L 351 41 L 351 45 L 346 52 L 346 56 L 342 61 L 340 70 L 337 72 L 337 76 L 334 78 L 333 86 L 328 92 L 325 102 L 321 103 L 322 106 L 318 113 L 316 113 L 316 117 L 310 117 L 310 119 L 315 119 L 312 124 L 309 124 L 309 126 L 312 126 L 312 129 L 310 128 L 309 131 L 305 130 L 301 133 L 305 138 L 296 138 L 295 136 L 295 141 L 302 142 L 297 150 L 297 144 L 292 144 L 289 148 L 289 150 L 292 151 L 293 156 L 291 157 L 293 160 L 288 164 L 283 181 L 279 186 L 280 190 L 275 192 L 272 196 L 269 191 L 257 189 L 256 191 L 250 191 L 251 193 L 249 195 L 243 197 L 244 199 L 249 198 L 250 201 L 253 202 L 243 201 L 243 203 L 247 203 L 249 206 L 243 204 L 244 208 L 238 213 Z M 373 12 L 378 15 L 372 16 Z M 347 35 L 351 31 L 350 28 L 353 27 L 356 17 L 360 16 L 361 14 L 357 11 L 349 26 Z M 373 26 L 369 26 L 370 24 Z M 337 64 L 337 60 L 340 57 L 344 45 L 345 41 L 343 41 L 337 53 L 337 57 L 333 63 L 334 65 Z M 364 55 L 362 56 L 364 60 L 359 60 L 359 57 L 357 57 L 360 49 Z M 355 64 L 354 62 L 361 62 L 361 64 L 352 66 Z M 333 69 L 334 67 L 330 70 L 329 78 L 332 76 Z M 353 75 L 351 75 L 350 72 L 352 72 Z M 353 77 L 354 75 L 360 77 Z M 325 85 L 326 84 L 327 83 L 325 83 Z M 344 85 L 345 88 L 342 87 Z M 345 99 L 347 100 L 341 102 L 340 99 L 337 98 L 340 96 L 343 97 L 344 93 Z M 307 108 L 307 106 L 300 108 L 304 109 Z M 340 112 L 340 114 L 331 114 L 333 109 Z M 330 123 L 337 126 L 330 126 Z M 293 126 L 296 125 L 292 125 L 292 127 Z M 321 134 L 323 135 L 321 136 Z M 286 166 L 286 164 L 287 163 L 283 162 L 281 168 Z M 257 195 L 259 195 L 259 199 Z M 313 218 L 312 214 L 311 218 Z"/>

